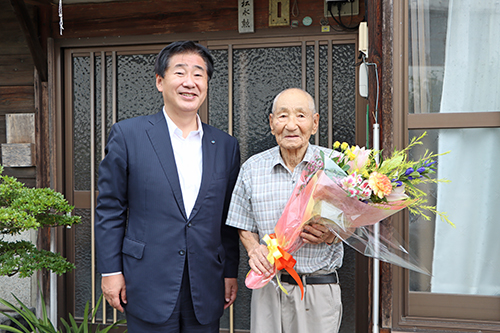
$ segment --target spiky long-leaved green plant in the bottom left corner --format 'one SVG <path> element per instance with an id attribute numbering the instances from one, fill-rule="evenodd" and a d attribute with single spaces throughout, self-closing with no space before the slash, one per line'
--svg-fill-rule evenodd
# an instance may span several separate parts
<path id="1" fill-rule="evenodd" d="M 99 305 L 101 304 L 102 301 L 102 295 L 99 297 L 99 300 L 97 301 L 95 309 L 92 311 L 92 314 L 89 314 L 89 302 L 85 304 L 85 310 L 83 313 L 83 321 L 78 324 L 75 320 L 75 318 L 69 314 L 69 323 L 65 321 L 64 319 L 61 318 L 61 323 L 64 326 L 65 330 L 58 329 L 56 330 L 54 328 L 54 325 L 50 321 L 49 317 L 47 316 L 47 309 L 45 304 L 42 302 L 42 318 L 37 318 L 31 310 L 24 305 L 17 297 L 14 296 L 16 301 L 19 303 L 19 307 L 15 306 L 9 302 L 7 302 L 4 299 L 0 298 L 0 304 L 5 305 L 12 311 L 16 312 L 19 314 L 25 321 L 26 325 L 23 325 L 19 320 L 16 318 L 12 317 L 11 315 L 2 312 L 7 318 L 11 320 L 12 323 L 16 324 L 20 329 L 6 326 L 6 325 L 0 325 L 0 329 L 3 329 L 7 332 L 13 332 L 13 333 L 29 333 L 29 332 L 39 332 L 39 333 L 88 333 L 88 332 L 94 332 L 94 333 L 107 333 L 111 329 L 117 328 L 119 324 L 125 323 L 125 320 L 119 320 L 110 326 L 107 326 L 105 328 L 101 329 L 100 325 L 97 325 L 97 327 L 94 329 L 92 321 L 96 316 L 97 310 L 99 309 Z M 43 295 L 42 295 L 43 299 Z"/>

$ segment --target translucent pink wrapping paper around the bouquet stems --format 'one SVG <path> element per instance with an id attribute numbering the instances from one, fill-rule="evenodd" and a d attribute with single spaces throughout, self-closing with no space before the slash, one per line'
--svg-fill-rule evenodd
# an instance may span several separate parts
<path id="1" fill-rule="evenodd" d="M 407 199 L 388 204 L 365 203 L 349 197 L 323 170 L 317 171 L 308 183 L 306 174 L 304 171 L 274 228 L 279 245 L 290 254 L 304 245 L 300 234 L 306 223 L 325 224 L 345 240 L 356 228 L 375 224 L 412 202 Z M 245 285 L 250 289 L 262 288 L 275 274 L 276 270 L 266 278 L 251 270 Z"/>

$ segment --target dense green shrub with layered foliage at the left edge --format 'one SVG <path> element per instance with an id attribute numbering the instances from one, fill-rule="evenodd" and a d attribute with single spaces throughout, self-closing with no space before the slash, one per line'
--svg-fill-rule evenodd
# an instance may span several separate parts
<path id="1" fill-rule="evenodd" d="M 15 178 L 2 175 L 0 166 L 0 275 L 31 276 L 42 268 L 62 274 L 74 268 L 58 253 L 38 250 L 31 242 L 3 240 L 30 229 L 70 227 L 80 222 L 71 216 L 73 206 L 61 193 L 49 188 L 28 188 Z"/>

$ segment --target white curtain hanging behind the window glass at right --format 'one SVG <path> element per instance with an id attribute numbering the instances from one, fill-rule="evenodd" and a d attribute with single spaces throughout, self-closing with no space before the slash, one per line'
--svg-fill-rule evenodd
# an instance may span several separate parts
<path id="1" fill-rule="evenodd" d="M 500 1 L 450 0 L 440 112 L 500 111 Z M 439 132 L 431 291 L 500 295 L 500 128 Z"/>

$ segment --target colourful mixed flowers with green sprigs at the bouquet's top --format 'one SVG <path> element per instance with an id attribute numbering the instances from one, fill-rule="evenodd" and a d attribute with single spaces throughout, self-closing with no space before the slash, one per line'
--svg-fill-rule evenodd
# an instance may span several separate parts
<path id="1" fill-rule="evenodd" d="M 424 132 L 418 138 L 412 138 L 409 145 L 402 150 L 394 150 L 391 156 L 383 158 L 382 151 L 369 150 L 358 146 L 349 147 L 347 143 L 335 142 L 334 149 L 339 155 L 330 156 L 340 169 L 347 175 L 341 186 L 350 196 L 371 203 L 388 203 L 405 201 L 410 213 L 430 219 L 427 213 L 439 216 L 452 226 L 455 226 L 444 212 L 429 205 L 427 193 L 419 188 L 426 183 L 447 183 L 449 180 L 438 179 L 436 174 L 436 159 L 448 154 L 435 154 L 425 151 L 418 160 L 408 158 L 409 151 L 417 145 L 422 145 Z"/>

